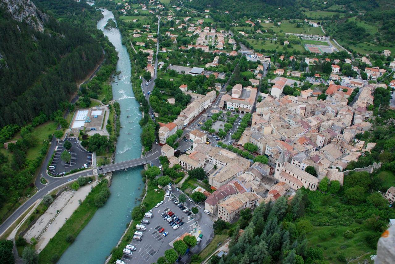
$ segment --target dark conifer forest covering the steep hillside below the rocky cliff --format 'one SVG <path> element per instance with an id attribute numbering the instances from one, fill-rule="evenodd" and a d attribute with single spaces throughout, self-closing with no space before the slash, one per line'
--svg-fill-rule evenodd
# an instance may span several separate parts
<path id="1" fill-rule="evenodd" d="M 34 3 L 49 14 L 44 32 L 0 9 L 0 93 L 7 95 L 0 99 L 0 127 L 51 117 L 103 58 L 105 39 L 91 26 L 100 12 L 71 0 Z"/>

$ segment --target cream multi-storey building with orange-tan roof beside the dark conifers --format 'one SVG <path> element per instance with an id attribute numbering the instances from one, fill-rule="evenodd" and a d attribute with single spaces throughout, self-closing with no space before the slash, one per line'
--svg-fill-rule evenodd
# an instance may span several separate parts
<path id="1" fill-rule="evenodd" d="M 237 193 L 218 205 L 218 218 L 232 222 L 246 208 L 255 208 L 260 197 L 253 192 Z"/>

